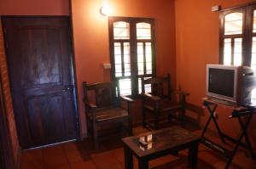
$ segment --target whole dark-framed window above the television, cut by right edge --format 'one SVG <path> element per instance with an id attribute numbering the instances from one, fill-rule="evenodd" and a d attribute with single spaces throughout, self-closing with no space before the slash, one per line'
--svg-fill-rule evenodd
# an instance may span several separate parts
<path id="1" fill-rule="evenodd" d="M 220 63 L 247 65 L 256 70 L 256 3 L 220 13 Z M 256 89 L 252 102 L 256 103 Z"/>

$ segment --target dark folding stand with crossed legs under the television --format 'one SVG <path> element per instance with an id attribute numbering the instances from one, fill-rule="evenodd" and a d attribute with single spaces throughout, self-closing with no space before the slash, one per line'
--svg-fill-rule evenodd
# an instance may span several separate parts
<path id="1" fill-rule="evenodd" d="M 241 145 L 244 148 L 248 149 L 250 154 L 252 155 L 253 159 L 256 159 L 256 154 L 253 152 L 252 144 L 249 140 L 249 137 L 247 135 L 247 127 L 250 124 L 250 121 L 252 120 L 253 114 L 256 114 L 256 108 L 253 106 L 247 106 L 247 107 L 234 107 L 232 115 L 229 116 L 230 119 L 236 118 L 239 121 L 239 124 L 241 126 L 241 133 L 237 138 L 232 138 L 229 135 L 225 134 L 220 130 L 218 127 L 218 122 L 216 121 L 216 118 L 214 116 L 214 112 L 218 107 L 218 104 L 225 104 L 224 102 L 219 102 L 214 99 L 203 99 L 203 105 L 207 108 L 207 112 L 210 114 L 207 124 L 204 127 L 202 133 L 201 133 L 201 143 L 205 144 L 207 147 L 216 150 L 221 155 L 224 155 L 226 158 L 228 158 L 228 162 L 225 166 L 225 169 L 229 168 L 234 156 L 236 155 L 236 151 L 238 147 Z M 241 117 L 246 116 L 246 121 L 242 121 Z M 223 146 L 216 144 L 212 142 L 210 139 L 205 137 L 205 133 L 207 132 L 207 127 L 210 124 L 210 121 L 213 121 L 214 126 L 217 128 L 218 135 L 221 138 L 222 142 L 226 144 L 225 138 L 235 143 L 234 149 L 226 149 Z M 245 138 L 245 142 L 242 142 L 242 138 Z"/>

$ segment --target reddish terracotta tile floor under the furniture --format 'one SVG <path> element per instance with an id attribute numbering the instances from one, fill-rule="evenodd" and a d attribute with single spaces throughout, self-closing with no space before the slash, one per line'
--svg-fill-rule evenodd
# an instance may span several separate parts
<path id="1" fill-rule="evenodd" d="M 147 132 L 142 127 L 133 129 L 134 133 Z M 200 130 L 194 131 L 200 134 Z M 218 141 L 214 136 L 208 136 Z M 199 147 L 199 169 L 223 169 L 226 159 L 218 153 L 208 149 L 203 144 Z M 239 149 L 230 168 L 255 169 L 256 161 L 247 157 L 244 149 Z M 92 149 L 89 142 L 73 142 L 59 144 L 42 149 L 25 150 L 21 155 L 20 169 L 123 169 L 124 151 L 119 138 L 104 141 L 99 150 Z M 187 150 L 178 153 L 177 156 L 166 155 L 149 162 L 154 169 L 182 169 L 187 166 Z M 134 158 L 134 168 L 137 168 L 137 160 Z"/>

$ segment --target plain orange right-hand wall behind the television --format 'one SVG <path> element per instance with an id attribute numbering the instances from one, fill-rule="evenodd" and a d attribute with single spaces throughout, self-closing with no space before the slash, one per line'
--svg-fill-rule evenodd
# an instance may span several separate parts
<path id="1" fill-rule="evenodd" d="M 218 12 L 211 12 L 211 7 L 230 8 L 247 2 L 252 0 L 175 1 L 177 85 L 190 93 L 189 103 L 201 106 L 206 94 L 206 65 L 218 64 Z M 236 120 L 228 120 L 230 109 L 221 107 L 217 112 L 224 131 L 236 136 L 239 127 Z M 207 117 L 202 117 L 201 125 Z M 256 138 L 256 128 L 251 133 Z"/>

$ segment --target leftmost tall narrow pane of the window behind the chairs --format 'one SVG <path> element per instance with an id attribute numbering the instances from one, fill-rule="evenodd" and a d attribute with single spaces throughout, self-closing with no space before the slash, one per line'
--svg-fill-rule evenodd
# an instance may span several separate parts
<path id="1" fill-rule="evenodd" d="M 121 59 L 121 43 L 114 43 L 114 67 L 115 76 L 122 76 L 122 59 Z"/>

